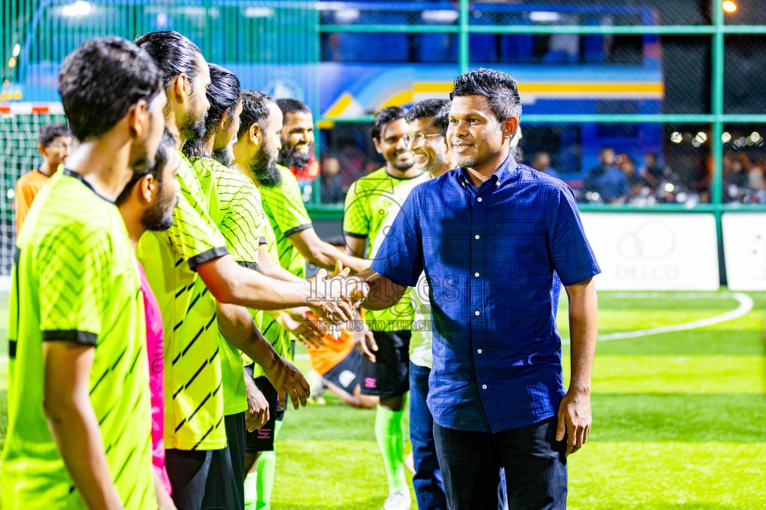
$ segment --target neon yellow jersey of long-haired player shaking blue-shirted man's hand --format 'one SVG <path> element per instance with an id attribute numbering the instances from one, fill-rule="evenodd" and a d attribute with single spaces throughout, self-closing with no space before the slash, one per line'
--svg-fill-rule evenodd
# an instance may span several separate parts
<path id="1" fill-rule="evenodd" d="M 146 232 L 136 255 L 165 328 L 165 448 L 226 447 L 221 342 L 215 299 L 195 268 L 228 255 L 200 184 L 182 156 L 181 193 L 166 232 Z"/>

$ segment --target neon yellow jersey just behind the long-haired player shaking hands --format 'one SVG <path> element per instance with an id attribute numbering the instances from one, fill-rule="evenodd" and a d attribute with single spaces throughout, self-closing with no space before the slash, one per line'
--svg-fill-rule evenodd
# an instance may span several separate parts
<path id="1" fill-rule="evenodd" d="M 257 269 L 258 244 L 266 236 L 257 187 L 252 180 L 213 158 L 195 157 L 189 161 L 208 203 L 208 213 L 226 239 L 231 256 L 240 265 Z M 256 314 L 253 310 L 250 313 Z M 240 413 L 247 410 L 243 355 L 220 333 L 218 337 L 224 353 L 221 359 L 224 414 Z"/>

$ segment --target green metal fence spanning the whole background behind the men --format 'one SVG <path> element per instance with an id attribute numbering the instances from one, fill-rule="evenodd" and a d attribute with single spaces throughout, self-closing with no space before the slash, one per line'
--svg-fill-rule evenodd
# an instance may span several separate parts
<path id="1" fill-rule="evenodd" d="M 718 219 L 720 237 L 724 211 L 766 210 L 766 115 L 760 113 L 766 109 L 766 8 L 758 0 L 735 0 L 736 11 L 726 12 L 724 3 L 8 0 L 2 6 L 2 93 L 15 99 L 23 86 L 22 100 L 54 100 L 49 96 L 57 65 L 87 37 L 182 31 L 208 60 L 234 70 L 243 86 L 303 99 L 319 113 L 323 170 L 304 197 L 316 219 L 339 219 L 349 180 L 382 162 L 369 140 L 374 109 L 336 114 L 322 104 L 332 66 L 347 73 L 359 63 L 385 63 L 417 73 L 423 64 L 457 76 L 474 67 L 510 65 L 519 70 L 522 100 L 550 92 L 546 83 L 524 80 L 529 70 L 555 65 L 557 72 L 580 76 L 636 73 L 646 79 L 633 84 L 633 93 L 646 100 L 620 100 L 619 90 L 607 86 L 589 109 L 575 102 L 559 102 L 555 111 L 525 105 L 525 163 L 539 164 L 542 152 L 552 152 L 552 167 L 579 188 L 581 210 L 705 211 Z M 88 16 L 78 16 L 87 9 Z M 566 86 L 589 92 L 577 76 Z M 417 99 L 415 92 L 400 102 Z M 24 129 L 34 151 L 34 137 Z M 634 185 L 620 203 L 594 198 L 586 189 L 597 158 L 594 144 L 605 135 L 624 140 L 613 144 L 615 164 Z M 20 157 L 10 153 L 10 138 L 0 140 L 8 181 L 3 193 L 31 164 L 6 166 L 8 158 Z M 656 143 L 643 144 L 649 138 Z M 552 144 L 557 151 L 549 150 Z M 647 163 L 651 153 L 660 154 L 654 165 Z M 648 174 L 654 180 L 642 177 Z M 8 223 L 11 200 L 6 195 L 2 202 Z M 12 235 L 4 239 L 12 245 Z"/>

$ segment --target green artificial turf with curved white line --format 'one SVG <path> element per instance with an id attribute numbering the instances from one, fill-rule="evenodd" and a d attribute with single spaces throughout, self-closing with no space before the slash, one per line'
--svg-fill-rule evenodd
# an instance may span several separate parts
<path id="1" fill-rule="evenodd" d="M 748 295 L 753 310 L 735 320 L 597 344 L 593 427 L 588 443 L 568 461 L 568 508 L 766 508 L 766 293 Z M 728 291 L 598 297 L 601 335 L 738 307 Z M 0 317 L 7 317 L 5 307 L 0 296 Z M 562 297 L 558 325 L 565 338 L 567 311 Z M 0 330 L 5 327 L 0 323 Z M 0 355 L 6 349 L 0 343 Z M 300 346 L 297 351 L 306 352 Z M 569 346 L 562 351 L 568 372 Z M 309 367 L 303 356 L 296 365 Z M 6 372 L 0 364 L 0 440 L 7 421 Z M 387 484 L 375 411 L 349 408 L 329 392 L 325 398 L 325 405 L 287 411 L 271 508 L 379 510 Z M 407 414 L 404 422 L 406 436 Z"/>

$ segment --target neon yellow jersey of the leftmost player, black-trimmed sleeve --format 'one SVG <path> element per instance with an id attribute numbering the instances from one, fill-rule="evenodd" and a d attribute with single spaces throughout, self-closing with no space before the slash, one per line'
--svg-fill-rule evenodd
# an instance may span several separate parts
<path id="1" fill-rule="evenodd" d="M 90 403 L 117 493 L 128 510 L 157 508 L 136 259 L 116 206 L 78 174 L 57 172 L 34 200 L 17 242 L 11 310 L 3 508 L 86 508 L 42 408 L 46 340 L 95 347 Z"/>

